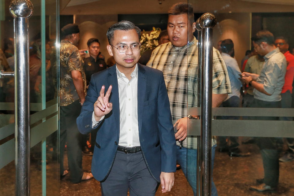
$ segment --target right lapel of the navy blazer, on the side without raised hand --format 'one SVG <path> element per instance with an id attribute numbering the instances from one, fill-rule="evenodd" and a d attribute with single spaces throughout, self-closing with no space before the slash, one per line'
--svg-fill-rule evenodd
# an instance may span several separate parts
<path id="1" fill-rule="evenodd" d="M 143 119 L 143 106 L 145 101 L 146 91 L 146 76 L 144 65 L 138 63 L 138 127 L 139 136 L 141 135 L 142 119 Z"/>

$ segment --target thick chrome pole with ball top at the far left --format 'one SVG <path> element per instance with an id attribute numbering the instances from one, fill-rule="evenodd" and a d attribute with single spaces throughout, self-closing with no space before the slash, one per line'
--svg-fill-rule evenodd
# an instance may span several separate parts
<path id="1" fill-rule="evenodd" d="M 33 5 L 29 0 L 13 0 L 9 6 L 14 17 L 15 61 L 15 195 L 30 195 L 30 108 L 29 108 L 29 34 L 28 18 Z"/>

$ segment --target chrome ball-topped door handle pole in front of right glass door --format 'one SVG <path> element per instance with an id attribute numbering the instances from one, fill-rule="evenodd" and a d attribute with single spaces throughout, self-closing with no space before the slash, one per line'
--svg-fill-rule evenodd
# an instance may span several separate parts
<path id="1" fill-rule="evenodd" d="M 202 103 L 201 103 L 201 139 L 202 139 L 202 195 L 211 195 L 211 121 L 212 121 L 212 62 L 213 27 L 215 16 L 205 13 L 200 17 L 202 27 Z"/>

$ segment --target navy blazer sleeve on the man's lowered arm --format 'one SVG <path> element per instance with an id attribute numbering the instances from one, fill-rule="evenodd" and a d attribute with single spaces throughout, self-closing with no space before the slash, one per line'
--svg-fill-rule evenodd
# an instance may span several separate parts
<path id="1" fill-rule="evenodd" d="M 164 76 L 161 72 L 157 100 L 157 126 L 161 147 L 161 172 L 176 171 L 176 143 L 171 109 Z"/>

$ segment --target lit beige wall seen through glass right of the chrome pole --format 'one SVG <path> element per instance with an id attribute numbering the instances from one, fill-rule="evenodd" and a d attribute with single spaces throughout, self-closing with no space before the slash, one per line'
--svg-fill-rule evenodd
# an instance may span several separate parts
<path id="1" fill-rule="evenodd" d="M 216 14 L 217 25 L 213 28 L 213 46 L 219 40 L 232 39 L 235 58 L 241 67 L 241 60 L 251 44 L 251 13 Z"/>

